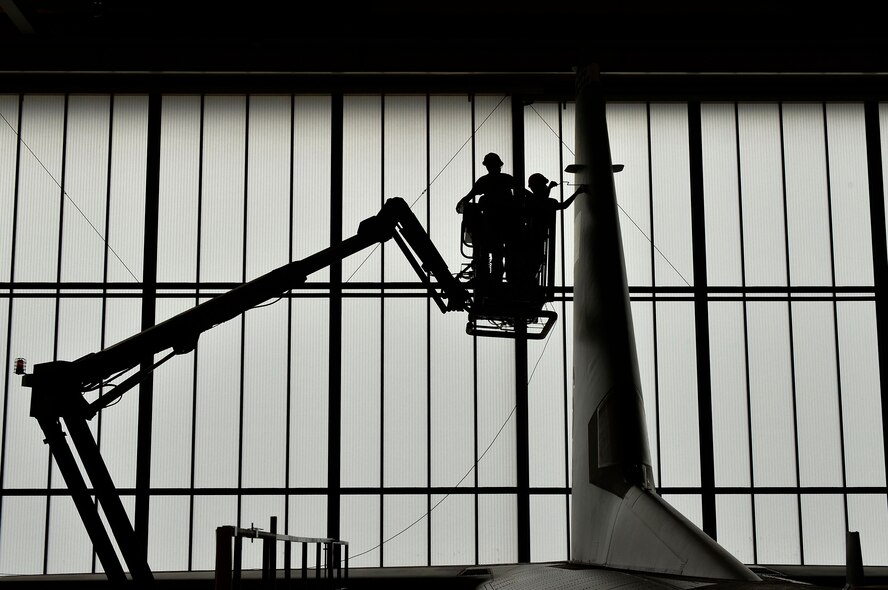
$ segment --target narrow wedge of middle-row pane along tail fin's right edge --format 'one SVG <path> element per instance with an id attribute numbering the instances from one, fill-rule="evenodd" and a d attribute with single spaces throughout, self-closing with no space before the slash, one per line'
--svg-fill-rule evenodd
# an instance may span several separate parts
<path id="1" fill-rule="evenodd" d="M 648 301 L 633 301 L 632 324 L 635 328 L 635 351 L 638 357 L 638 374 L 644 398 L 644 417 L 647 422 L 648 446 L 651 452 L 651 468 L 655 479 L 660 480 L 660 431 L 657 400 L 657 364 L 654 350 L 654 306 Z M 571 331 L 571 334 L 573 332 Z M 568 340 L 571 342 L 572 338 Z M 573 407 L 573 403 L 571 403 Z"/>

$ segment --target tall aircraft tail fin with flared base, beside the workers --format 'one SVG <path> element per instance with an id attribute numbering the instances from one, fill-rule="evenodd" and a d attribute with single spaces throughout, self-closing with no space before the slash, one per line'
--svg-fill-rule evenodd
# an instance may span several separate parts
<path id="1" fill-rule="evenodd" d="M 574 204 L 571 560 L 757 581 L 654 490 L 605 102 L 594 67 L 577 71 L 576 104 L 576 181 L 589 190 Z"/>

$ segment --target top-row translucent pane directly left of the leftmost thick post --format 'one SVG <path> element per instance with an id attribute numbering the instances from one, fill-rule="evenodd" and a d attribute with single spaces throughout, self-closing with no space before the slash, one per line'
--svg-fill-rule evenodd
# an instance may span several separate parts
<path id="1" fill-rule="evenodd" d="M 144 258 L 148 97 L 115 96 L 113 117 L 108 280 L 135 282 L 142 279 Z"/>

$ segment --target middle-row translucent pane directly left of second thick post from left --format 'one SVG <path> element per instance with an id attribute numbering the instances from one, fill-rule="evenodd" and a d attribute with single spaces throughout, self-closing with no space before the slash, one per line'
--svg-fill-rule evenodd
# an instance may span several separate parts
<path id="1" fill-rule="evenodd" d="M 293 348 L 290 359 L 288 485 L 326 486 L 330 406 L 330 304 L 321 299 L 296 299 L 290 305 L 293 307 L 293 332 L 290 340 Z M 326 533 L 318 536 L 326 536 Z"/>

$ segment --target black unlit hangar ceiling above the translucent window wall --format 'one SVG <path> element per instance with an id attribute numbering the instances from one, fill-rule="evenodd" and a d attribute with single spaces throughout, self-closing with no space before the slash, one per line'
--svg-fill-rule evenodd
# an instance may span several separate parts
<path id="1" fill-rule="evenodd" d="M 581 63 L 635 75 L 888 72 L 880 3 L 820 4 L 0 0 L 0 82 L 201 72 L 532 73 L 557 83 Z"/>

